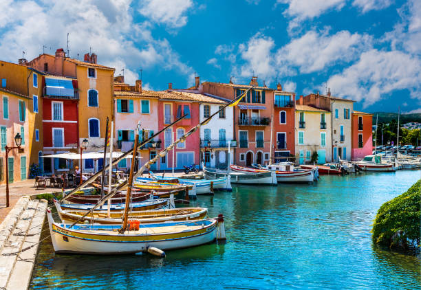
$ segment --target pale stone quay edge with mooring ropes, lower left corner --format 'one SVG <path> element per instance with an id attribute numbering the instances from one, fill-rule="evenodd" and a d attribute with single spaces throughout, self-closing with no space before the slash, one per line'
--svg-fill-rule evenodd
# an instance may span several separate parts
<path id="1" fill-rule="evenodd" d="M 23 196 L 1 223 L 0 289 L 28 288 L 46 209 L 47 201 Z"/>

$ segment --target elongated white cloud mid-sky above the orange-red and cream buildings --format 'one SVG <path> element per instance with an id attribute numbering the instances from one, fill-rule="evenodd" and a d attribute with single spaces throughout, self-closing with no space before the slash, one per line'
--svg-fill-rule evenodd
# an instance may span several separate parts
<path id="1" fill-rule="evenodd" d="M 348 31 L 333 35 L 310 31 L 279 49 L 276 63 L 277 67 L 299 67 L 306 74 L 321 71 L 338 61 L 358 58 L 361 51 L 371 46 L 370 42 L 369 36 Z"/>

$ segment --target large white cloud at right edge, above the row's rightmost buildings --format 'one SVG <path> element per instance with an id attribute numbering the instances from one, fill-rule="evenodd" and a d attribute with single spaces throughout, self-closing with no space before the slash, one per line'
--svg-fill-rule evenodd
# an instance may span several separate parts
<path id="1" fill-rule="evenodd" d="M 327 85 L 336 96 L 364 100 L 364 106 L 380 100 L 382 94 L 408 89 L 412 98 L 421 93 L 421 60 L 404 52 L 371 49 Z"/>

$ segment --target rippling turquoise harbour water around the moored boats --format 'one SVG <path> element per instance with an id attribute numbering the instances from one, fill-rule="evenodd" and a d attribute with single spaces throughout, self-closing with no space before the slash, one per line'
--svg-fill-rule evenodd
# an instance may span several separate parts
<path id="1" fill-rule="evenodd" d="M 226 216 L 226 243 L 149 255 L 40 248 L 32 289 L 420 289 L 421 256 L 371 243 L 380 205 L 420 171 L 323 176 L 313 185 L 237 186 L 193 205 Z"/>

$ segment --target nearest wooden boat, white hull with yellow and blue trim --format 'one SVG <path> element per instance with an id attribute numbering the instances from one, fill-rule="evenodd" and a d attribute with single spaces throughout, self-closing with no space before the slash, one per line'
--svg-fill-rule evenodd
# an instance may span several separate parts
<path id="1" fill-rule="evenodd" d="M 69 225 L 56 223 L 47 210 L 54 252 L 78 254 L 134 254 L 149 247 L 181 249 L 225 238 L 224 218 L 149 223 L 120 234 L 121 225 Z"/>

